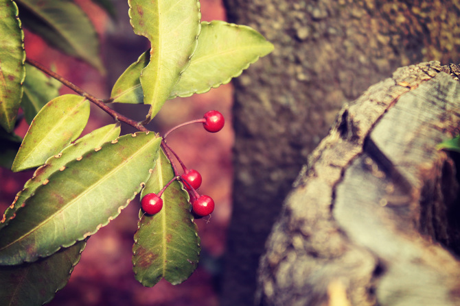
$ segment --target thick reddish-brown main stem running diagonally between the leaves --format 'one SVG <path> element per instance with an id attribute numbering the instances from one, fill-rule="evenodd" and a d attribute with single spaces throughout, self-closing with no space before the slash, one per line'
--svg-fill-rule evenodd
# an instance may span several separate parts
<path id="1" fill-rule="evenodd" d="M 126 123 L 127 125 L 130 125 L 130 126 L 134 127 L 135 129 L 137 129 L 139 131 L 148 131 L 148 129 L 146 127 L 144 127 L 143 125 L 137 123 L 135 120 L 132 120 L 132 119 L 126 117 L 126 116 L 123 116 L 122 114 L 119 114 L 115 110 L 112 110 L 110 107 L 108 107 L 106 105 L 106 103 L 110 103 L 111 101 L 113 101 L 113 99 L 107 99 L 107 100 L 97 99 L 92 94 L 89 94 L 88 92 L 85 92 L 84 90 L 82 90 L 82 88 L 76 86 L 75 84 L 73 84 L 68 79 L 65 79 L 64 77 L 58 75 L 57 73 L 54 73 L 53 71 L 50 71 L 48 68 L 46 68 L 42 64 L 40 64 L 40 63 L 38 63 L 38 62 L 36 62 L 34 60 L 30 60 L 29 58 L 27 58 L 25 60 L 25 62 L 27 62 L 28 64 L 31 64 L 32 66 L 34 66 L 34 67 L 36 67 L 38 69 L 40 69 L 41 71 L 43 71 L 44 73 L 46 73 L 50 77 L 52 77 L 54 79 L 57 79 L 62 84 L 64 84 L 65 86 L 67 86 L 68 88 L 73 90 L 74 92 L 77 92 L 78 94 L 80 94 L 80 96 L 83 96 L 83 97 L 87 98 L 89 101 L 91 101 L 95 105 L 97 105 L 97 107 L 100 107 L 100 109 L 104 110 L 104 112 L 106 112 L 107 114 L 111 115 L 113 119 L 115 119 L 117 121 L 122 121 L 122 122 Z"/>

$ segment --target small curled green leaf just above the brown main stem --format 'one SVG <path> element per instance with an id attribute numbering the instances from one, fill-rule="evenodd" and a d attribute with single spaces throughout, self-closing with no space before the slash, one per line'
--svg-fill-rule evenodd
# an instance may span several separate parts
<path id="1" fill-rule="evenodd" d="M 142 69 L 146 68 L 149 61 L 150 51 L 146 51 L 124 71 L 112 88 L 111 97 L 113 102 L 143 103 L 143 92 L 139 77 L 141 76 Z"/>

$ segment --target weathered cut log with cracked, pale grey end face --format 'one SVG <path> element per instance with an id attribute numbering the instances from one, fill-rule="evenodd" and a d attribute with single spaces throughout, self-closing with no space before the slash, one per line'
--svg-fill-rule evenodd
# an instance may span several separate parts
<path id="1" fill-rule="evenodd" d="M 436 149 L 460 131 L 459 77 L 407 66 L 343 107 L 267 240 L 257 304 L 460 305 L 460 161 Z"/>

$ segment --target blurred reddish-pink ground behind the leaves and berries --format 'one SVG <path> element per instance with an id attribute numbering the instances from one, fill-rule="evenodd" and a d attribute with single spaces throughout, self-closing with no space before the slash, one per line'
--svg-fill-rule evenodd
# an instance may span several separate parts
<path id="1" fill-rule="evenodd" d="M 220 1 L 200 2 L 203 20 L 225 19 Z M 78 3 L 89 13 L 104 41 L 108 18 L 91 1 L 79 0 Z M 87 64 L 49 49 L 40 38 L 30 33 L 26 34 L 25 47 L 28 57 L 45 66 L 54 65 L 56 72 L 96 97 L 108 97 L 110 88 L 107 86 L 107 78 Z M 137 54 L 143 51 L 139 50 Z M 216 201 L 216 210 L 211 218 L 197 220 L 203 256 L 192 277 L 175 286 L 162 280 L 153 288 L 144 288 L 135 281 L 131 269 L 131 246 L 133 233 L 137 229 L 139 201 L 134 201 L 118 218 L 89 239 L 68 285 L 56 294 L 49 305 L 218 305 L 218 282 L 215 278 L 218 266 L 215 259 L 225 251 L 225 232 L 231 212 L 231 90 L 230 85 L 220 86 L 206 94 L 168 101 L 155 118 L 154 126 L 159 127 L 159 132 L 187 120 L 200 118 L 211 109 L 219 110 L 226 118 L 226 126 L 219 133 L 207 133 L 202 126 L 194 125 L 175 131 L 168 138 L 168 144 L 181 156 L 183 162 L 203 175 L 200 192 L 212 196 Z M 71 91 L 63 89 L 62 93 Z M 111 118 L 93 108 L 84 133 L 108 123 L 111 123 Z M 16 132 L 23 136 L 25 131 L 27 125 L 24 123 Z M 16 192 L 21 190 L 23 183 L 31 176 L 31 171 L 12 173 L 0 168 L 1 212 L 12 203 Z"/>

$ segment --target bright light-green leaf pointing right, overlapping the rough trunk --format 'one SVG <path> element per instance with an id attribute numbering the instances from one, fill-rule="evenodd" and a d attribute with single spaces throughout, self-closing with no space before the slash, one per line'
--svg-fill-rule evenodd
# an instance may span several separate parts
<path id="1" fill-rule="evenodd" d="M 169 99 L 189 97 L 227 84 L 273 51 L 273 44 L 251 27 L 224 21 L 201 23 L 198 48 Z"/>

